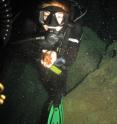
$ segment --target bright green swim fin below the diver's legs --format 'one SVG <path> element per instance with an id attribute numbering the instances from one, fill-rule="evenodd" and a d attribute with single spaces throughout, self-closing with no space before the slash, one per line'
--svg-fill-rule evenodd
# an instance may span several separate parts
<path id="1" fill-rule="evenodd" d="M 61 103 L 57 107 L 54 107 L 53 104 L 51 105 L 47 124 L 63 124 L 62 100 L 61 100 Z"/>

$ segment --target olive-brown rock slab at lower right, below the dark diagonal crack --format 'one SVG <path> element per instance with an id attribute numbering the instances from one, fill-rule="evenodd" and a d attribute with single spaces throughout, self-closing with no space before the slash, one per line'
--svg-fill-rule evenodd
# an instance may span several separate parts
<path id="1" fill-rule="evenodd" d="M 107 49 L 98 69 L 64 99 L 65 124 L 117 124 L 117 42 Z M 93 53 L 92 53 L 93 54 Z"/>

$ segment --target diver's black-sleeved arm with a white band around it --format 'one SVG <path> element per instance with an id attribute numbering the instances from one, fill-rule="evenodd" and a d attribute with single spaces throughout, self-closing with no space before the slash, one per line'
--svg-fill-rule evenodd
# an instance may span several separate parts
<path id="1" fill-rule="evenodd" d="M 80 24 L 74 25 L 74 27 L 71 29 L 71 34 L 68 38 L 67 49 L 64 53 L 66 66 L 71 66 L 75 62 L 80 47 L 82 34 L 83 30 Z"/>

